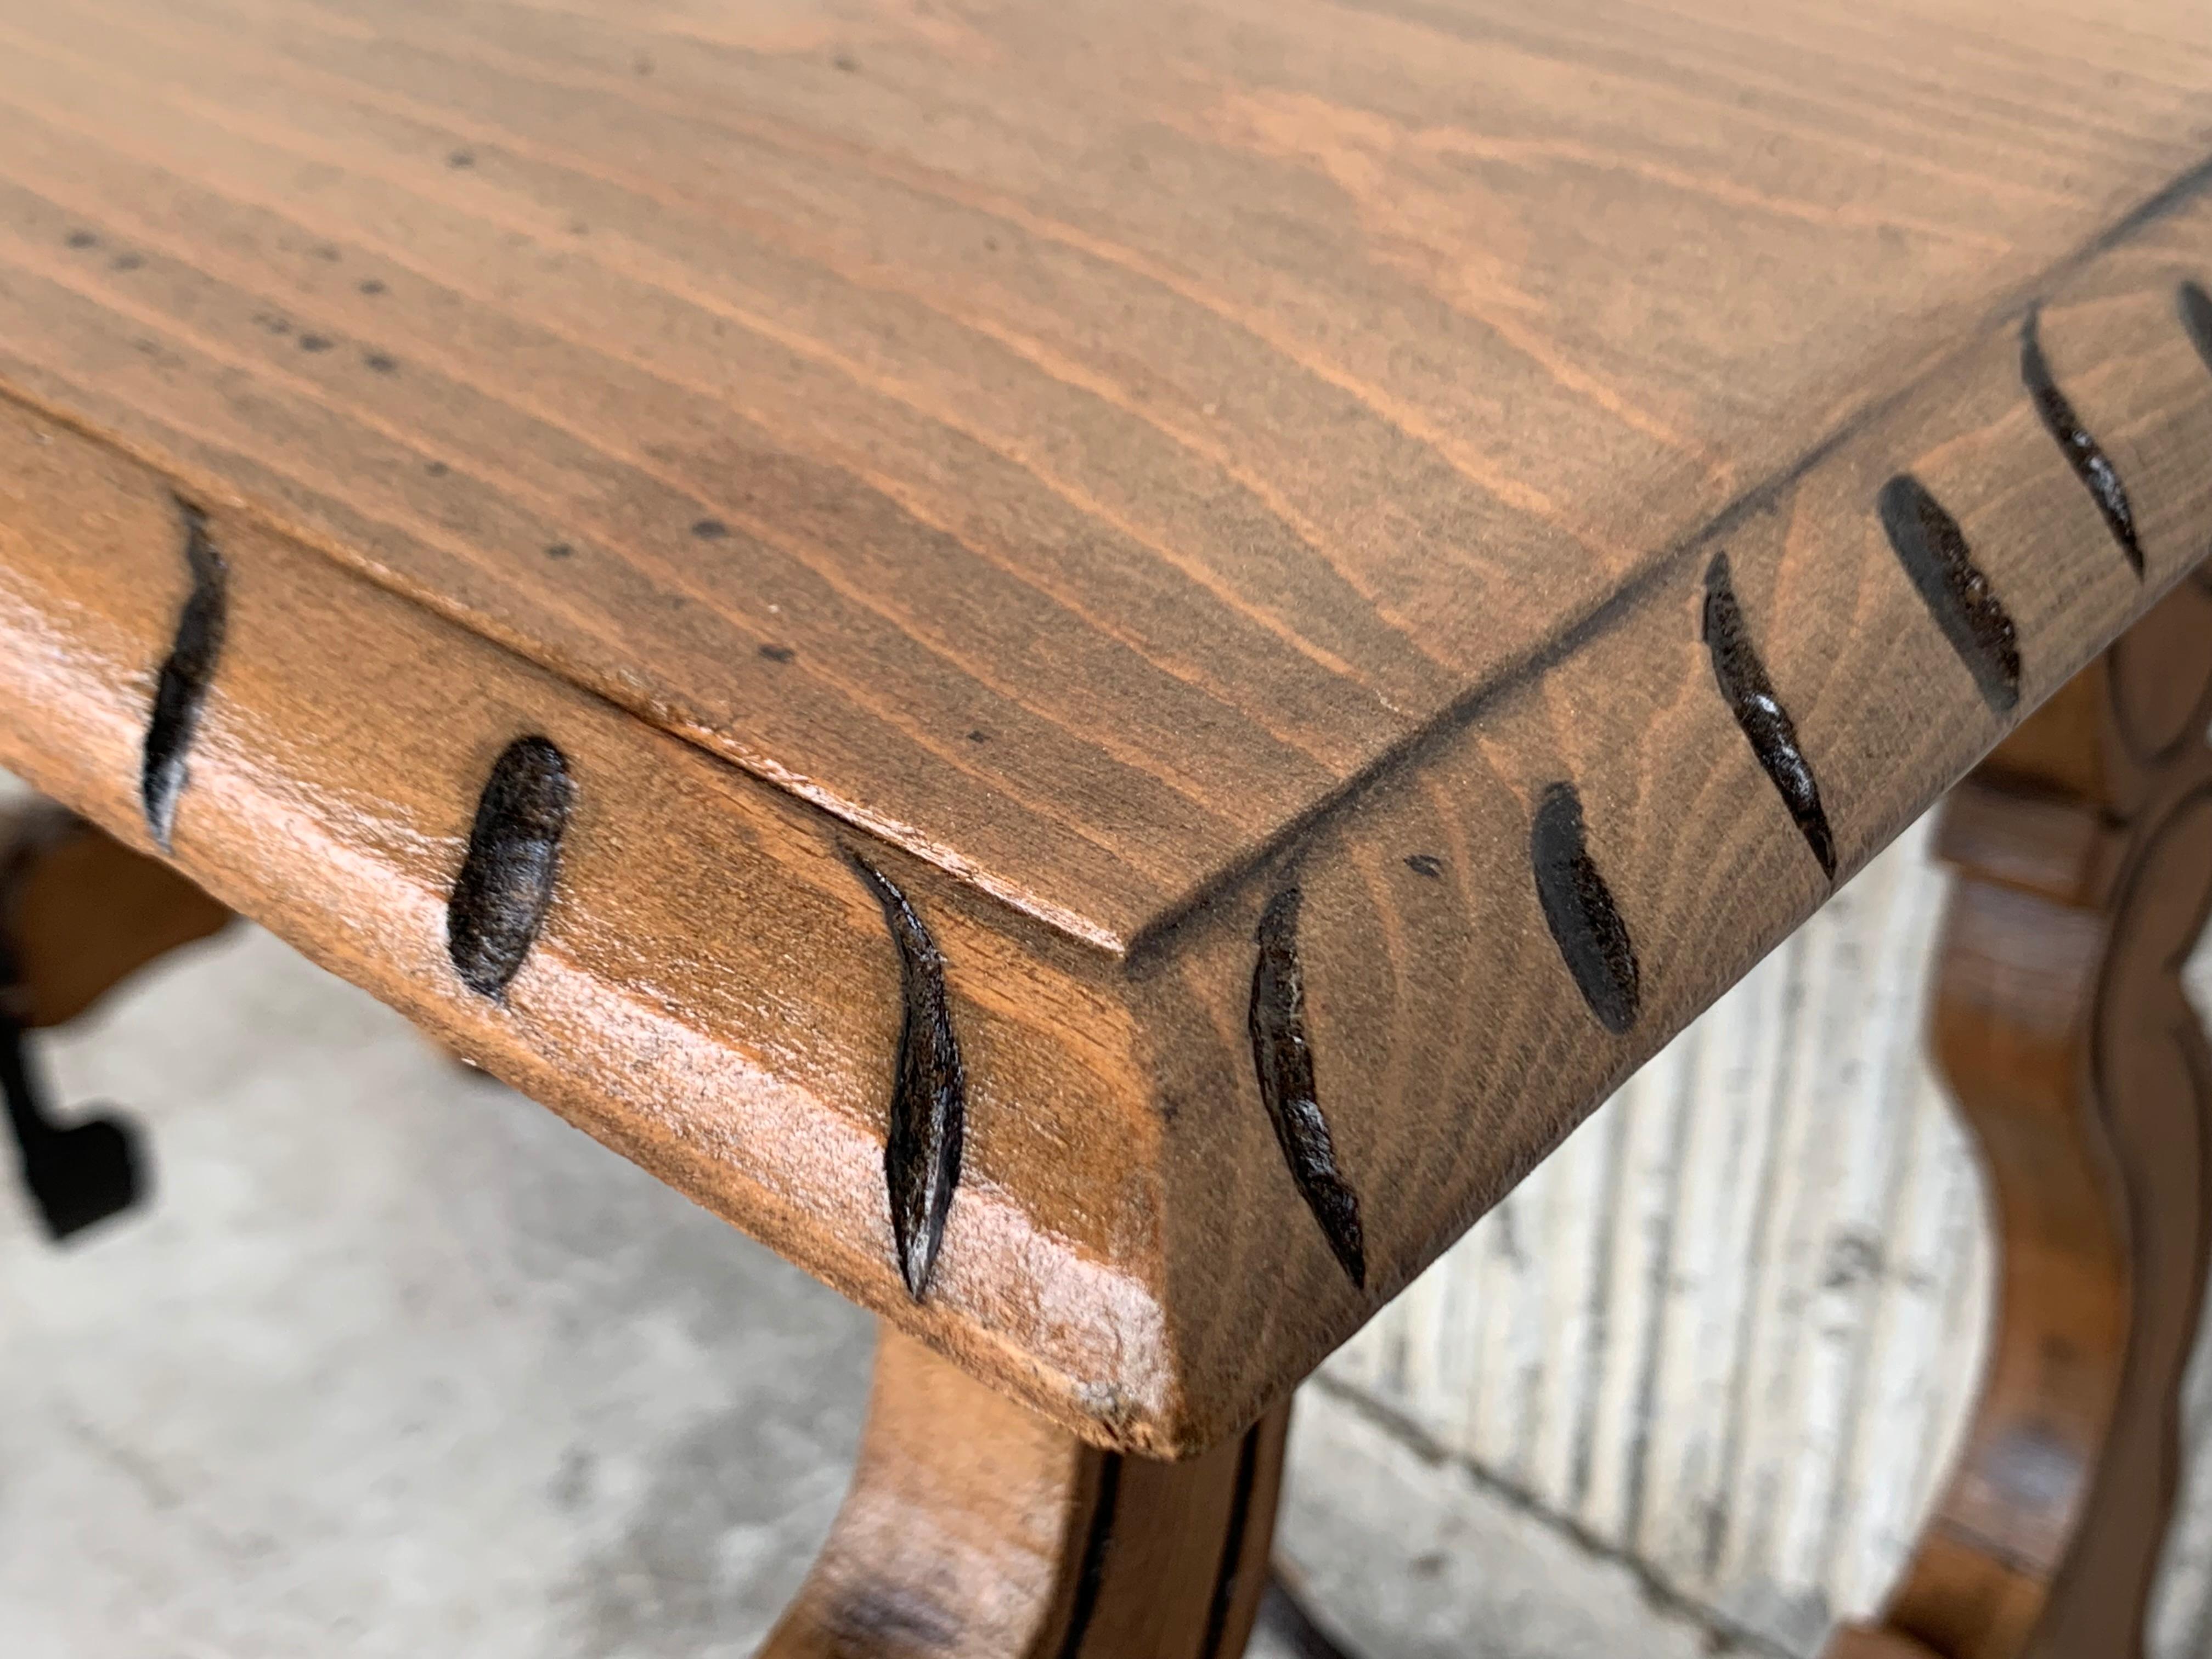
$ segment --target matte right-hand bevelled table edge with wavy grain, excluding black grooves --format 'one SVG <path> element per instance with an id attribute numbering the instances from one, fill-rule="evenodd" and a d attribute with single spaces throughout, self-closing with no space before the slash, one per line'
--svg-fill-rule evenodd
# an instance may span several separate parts
<path id="1" fill-rule="evenodd" d="M 1548 1119 L 1537 1102 L 1601 1099 L 1829 891 L 1699 639 L 1717 551 L 1730 555 L 1743 615 L 1818 770 L 1838 878 L 1931 799 L 1891 792 L 1898 781 L 1949 781 L 2013 719 L 1989 706 L 1898 564 L 1878 511 L 1887 480 L 1920 478 L 2002 595 L 2017 630 L 2017 710 L 2086 661 L 2086 650 L 2059 644 L 2059 615 L 2110 606 L 2117 628 L 2203 557 L 2212 498 L 2192 456 L 2212 442 L 2212 376 L 2174 321 L 2185 270 L 2177 254 L 2203 234 L 2199 215 L 2115 250 L 2044 307 L 2044 349 L 2137 502 L 2146 582 L 2112 549 L 2020 383 L 2017 323 L 2000 325 L 1931 374 L 1924 400 L 1851 434 L 1759 511 L 1717 526 L 1608 630 L 1440 734 L 1418 765 L 1298 843 L 1318 1097 L 1345 1177 L 1363 1194 L 1389 1194 L 1387 1210 L 1363 1203 L 1369 1294 L 1411 1279 L 1394 1254 L 1409 1217 L 1440 1221 L 1433 1245 L 1413 1252 L 1425 1263 L 1555 1144 L 1553 1128 L 1579 1121 L 1579 1106 Z M 2126 347 L 2115 336 L 2101 367 L 2090 319 L 2132 336 Z M 2152 414 L 2166 398 L 2172 425 Z M 1639 1000 L 1624 1035 L 1584 1004 L 1526 874 L 1528 827 L 1562 776 L 1575 781 L 1590 858 L 1635 945 Z M 1447 878 L 1422 878 L 1407 854 L 1442 858 Z M 1239 887 L 1237 902 L 1256 907 L 1272 878 Z M 1232 907 L 1217 909 L 1221 920 L 1177 933 L 1172 962 L 1137 973 L 1139 984 L 1157 975 L 1172 987 L 1164 1018 L 1183 1000 L 1214 1002 L 1179 1044 L 1161 1044 L 1186 1064 L 1170 1084 L 1177 1099 L 1221 1099 L 1241 1082 L 1203 1031 L 1228 1024 L 1217 987 L 1237 982 Z M 1761 918 L 1776 918 L 1772 931 Z M 1188 1203 L 1219 1194 L 1221 1170 L 1259 1188 L 1241 1206 L 1270 1203 L 1274 1170 L 1248 1124 L 1203 1121 L 1221 1141 L 1241 1139 L 1170 1166 L 1170 1179 L 1190 1172 L 1170 1186 L 1170 1208 L 1181 1208 L 1179 1192 Z M 1190 1327 L 1219 1336 L 1223 1367 L 1239 1349 L 1283 1340 L 1301 1298 L 1332 1294 L 1312 1261 L 1296 1267 L 1298 1290 L 1267 1307 L 1199 1301 L 1208 1285 L 1287 1272 L 1276 1239 L 1250 1239 L 1241 1272 L 1223 1274 L 1214 1256 L 1186 1281 Z M 1316 1343 L 1316 1360 L 1321 1352 Z"/>

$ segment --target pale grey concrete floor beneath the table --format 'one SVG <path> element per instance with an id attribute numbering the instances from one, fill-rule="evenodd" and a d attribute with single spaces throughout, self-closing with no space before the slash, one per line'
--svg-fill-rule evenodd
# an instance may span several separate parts
<path id="1" fill-rule="evenodd" d="M 150 1130 L 157 1194 L 53 1250 L 0 1183 L 4 1659 L 757 1646 L 867 1316 L 254 929 L 40 1053 Z M 1710 1650 L 1325 1385 L 1281 1551 L 1369 1659 Z"/>

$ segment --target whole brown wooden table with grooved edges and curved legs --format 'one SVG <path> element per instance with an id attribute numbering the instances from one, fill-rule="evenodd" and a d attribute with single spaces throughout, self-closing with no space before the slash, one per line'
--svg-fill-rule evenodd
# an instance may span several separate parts
<path id="1" fill-rule="evenodd" d="M 106 832 L 11 836 L 9 1048 L 226 907 L 883 1314 L 770 1652 L 1237 1652 L 1296 1380 L 1969 772 L 2002 1329 L 1834 1655 L 2141 1646 L 2212 1225 L 2203 7 L 0 46 L 0 763 Z M 66 1232 L 137 1166 L 33 1084 Z"/>

